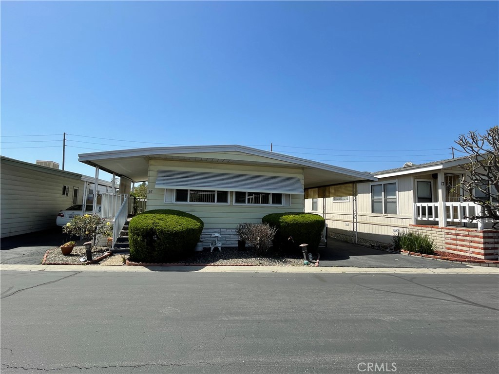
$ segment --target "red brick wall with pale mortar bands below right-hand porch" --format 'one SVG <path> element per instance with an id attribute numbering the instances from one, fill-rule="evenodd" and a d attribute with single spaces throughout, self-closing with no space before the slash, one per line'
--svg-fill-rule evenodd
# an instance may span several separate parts
<path id="1" fill-rule="evenodd" d="M 414 224 L 409 227 L 413 232 L 430 236 L 440 250 L 487 260 L 498 260 L 499 230 Z"/>

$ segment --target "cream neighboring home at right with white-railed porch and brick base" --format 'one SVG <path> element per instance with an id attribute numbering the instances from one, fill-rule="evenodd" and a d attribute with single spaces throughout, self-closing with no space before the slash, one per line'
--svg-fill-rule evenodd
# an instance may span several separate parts
<path id="1" fill-rule="evenodd" d="M 491 221 L 470 222 L 464 216 L 480 207 L 463 202 L 459 184 L 467 157 L 373 173 L 378 181 L 359 183 L 356 193 L 323 198 L 305 191 L 305 211 L 326 218 L 333 232 L 391 243 L 402 230 L 419 231 L 435 239 L 440 249 L 480 258 L 497 258 L 499 230 Z M 356 196 L 355 196 L 356 194 Z M 486 198 L 487 196 L 484 196 Z"/>

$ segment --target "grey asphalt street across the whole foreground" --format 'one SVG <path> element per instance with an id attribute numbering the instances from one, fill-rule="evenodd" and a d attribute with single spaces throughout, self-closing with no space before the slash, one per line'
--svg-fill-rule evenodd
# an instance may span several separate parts
<path id="1" fill-rule="evenodd" d="M 497 274 L 0 277 L 2 373 L 499 372 Z"/>

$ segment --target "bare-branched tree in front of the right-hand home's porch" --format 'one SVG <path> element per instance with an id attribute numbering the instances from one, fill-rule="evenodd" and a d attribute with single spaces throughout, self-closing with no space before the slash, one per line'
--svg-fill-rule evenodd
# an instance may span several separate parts
<path id="1" fill-rule="evenodd" d="M 499 224 L 499 127 L 495 126 L 484 135 L 470 131 L 460 135 L 456 141 L 464 153 L 468 155 L 469 163 L 461 166 L 467 171 L 461 181 L 465 191 L 464 200 L 473 201 L 482 206 L 482 212 L 466 217 L 473 220 L 491 218 L 492 228 Z"/>

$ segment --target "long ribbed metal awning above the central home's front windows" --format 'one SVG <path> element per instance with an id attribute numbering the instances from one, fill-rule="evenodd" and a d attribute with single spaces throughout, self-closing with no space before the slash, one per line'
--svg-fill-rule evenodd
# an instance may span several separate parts
<path id="1" fill-rule="evenodd" d="M 156 188 L 303 194 L 296 177 L 159 170 Z"/>

